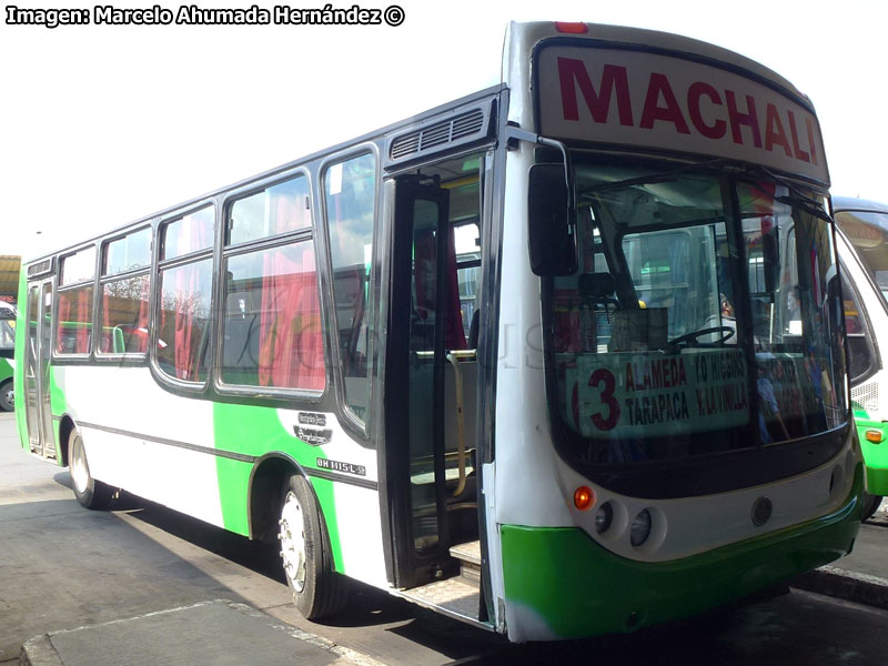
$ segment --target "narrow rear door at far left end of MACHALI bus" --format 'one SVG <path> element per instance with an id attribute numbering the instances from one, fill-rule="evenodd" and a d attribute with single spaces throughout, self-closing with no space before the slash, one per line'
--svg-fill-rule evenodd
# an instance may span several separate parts
<path id="1" fill-rule="evenodd" d="M 24 416 L 31 451 L 54 457 L 56 438 L 50 408 L 50 355 L 52 353 L 52 281 L 28 287 L 28 341 L 24 366 Z"/>

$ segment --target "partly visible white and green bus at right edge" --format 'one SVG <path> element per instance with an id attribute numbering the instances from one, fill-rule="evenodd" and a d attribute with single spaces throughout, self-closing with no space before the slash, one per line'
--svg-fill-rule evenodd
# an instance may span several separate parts
<path id="1" fill-rule="evenodd" d="M 888 495 L 888 205 L 833 198 L 848 324 L 851 405 L 867 471 L 865 517 Z"/>

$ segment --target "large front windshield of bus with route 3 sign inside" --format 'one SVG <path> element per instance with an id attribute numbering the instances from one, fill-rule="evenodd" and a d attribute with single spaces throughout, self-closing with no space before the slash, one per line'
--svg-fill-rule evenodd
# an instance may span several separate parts
<path id="1" fill-rule="evenodd" d="M 810 203 L 714 172 L 577 161 L 576 178 L 579 268 L 544 305 L 572 457 L 684 458 L 847 421 L 831 229 Z"/>

